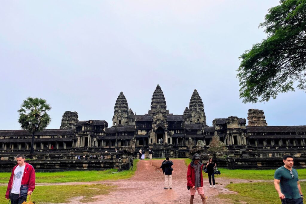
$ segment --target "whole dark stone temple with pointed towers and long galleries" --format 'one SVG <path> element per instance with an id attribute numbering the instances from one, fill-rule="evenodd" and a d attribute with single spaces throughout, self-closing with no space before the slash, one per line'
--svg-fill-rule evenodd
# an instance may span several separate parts
<path id="1" fill-rule="evenodd" d="M 235 164 L 240 162 L 252 167 L 266 165 L 269 158 L 277 158 L 281 162 L 279 158 L 287 153 L 304 158 L 306 126 L 268 126 L 263 111 L 258 109 L 249 109 L 247 119 L 248 125 L 246 119 L 235 116 L 216 118 L 213 127 L 209 127 L 202 99 L 196 90 L 182 115 L 171 114 L 162 89 L 157 85 L 148 113 L 135 115 L 129 109 L 125 95 L 120 92 L 111 127 L 106 121 L 79 121 L 77 112 L 66 111 L 59 129 L 46 129 L 35 134 L 34 149 L 42 153 L 60 151 L 80 154 L 105 150 L 114 152 L 115 148 L 121 150 L 134 146 L 136 156 L 140 148 L 146 150 L 152 147 L 155 158 L 167 155 L 187 158 L 195 151 L 209 152 L 210 148 L 215 148 L 212 148 L 215 143 L 220 146 L 221 141 L 227 153 L 214 149 L 211 154 L 220 162 L 223 158 L 224 166 L 231 165 L 232 161 L 228 158 L 235 158 Z M 211 143 L 214 135 L 218 142 Z M 27 152 L 30 146 L 31 134 L 27 131 L 0 130 L 2 153 Z M 304 166 L 304 159 L 299 160 L 299 165 Z"/>

